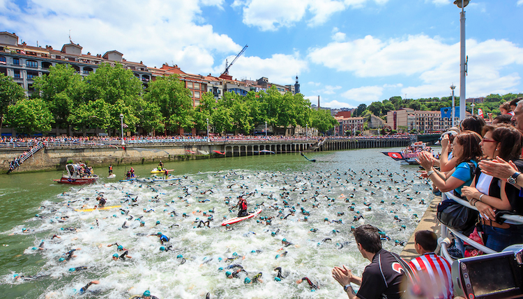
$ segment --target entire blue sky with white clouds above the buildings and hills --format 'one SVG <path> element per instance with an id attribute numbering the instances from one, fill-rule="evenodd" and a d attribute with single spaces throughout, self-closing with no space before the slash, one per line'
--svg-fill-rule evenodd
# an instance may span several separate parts
<path id="1" fill-rule="evenodd" d="M 0 31 L 82 53 L 116 50 L 148 67 L 262 76 L 312 104 L 354 108 L 390 97 L 460 95 L 460 12 L 453 0 L 0 0 Z M 523 92 L 523 0 L 465 8 L 467 98 Z"/>

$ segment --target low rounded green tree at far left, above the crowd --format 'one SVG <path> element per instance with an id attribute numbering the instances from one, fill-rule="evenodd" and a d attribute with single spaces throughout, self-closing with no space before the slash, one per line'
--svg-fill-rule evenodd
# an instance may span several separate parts
<path id="1" fill-rule="evenodd" d="M 6 119 L 17 131 L 33 134 L 50 131 L 53 116 L 43 99 L 22 99 L 8 107 Z"/>

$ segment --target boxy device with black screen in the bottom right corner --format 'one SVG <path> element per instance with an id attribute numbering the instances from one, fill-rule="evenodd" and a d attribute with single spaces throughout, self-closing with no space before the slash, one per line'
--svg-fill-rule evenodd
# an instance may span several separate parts
<path id="1" fill-rule="evenodd" d="M 523 248 L 457 259 L 452 264 L 454 295 L 468 299 L 510 299 L 523 296 Z"/>

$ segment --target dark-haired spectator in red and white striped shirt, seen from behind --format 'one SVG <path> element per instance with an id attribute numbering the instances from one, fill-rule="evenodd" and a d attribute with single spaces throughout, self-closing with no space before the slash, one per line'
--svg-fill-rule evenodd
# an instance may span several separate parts
<path id="1" fill-rule="evenodd" d="M 416 252 L 420 257 L 412 259 L 409 265 L 416 270 L 414 295 L 427 299 L 452 299 L 453 282 L 450 263 L 434 253 L 438 237 L 430 230 L 416 232 Z"/>

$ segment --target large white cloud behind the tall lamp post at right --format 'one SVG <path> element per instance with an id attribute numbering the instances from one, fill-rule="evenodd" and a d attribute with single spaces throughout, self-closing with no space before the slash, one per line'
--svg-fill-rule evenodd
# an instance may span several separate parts
<path id="1" fill-rule="evenodd" d="M 420 86 L 405 86 L 402 90 L 409 97 L 417 98 L 448 94 L 448 86 L 460 81 L 459 53 L 459 42 L 446 45 L 439 38 L 427 35 L 385 41 L 367 35 L 363 39 L 331 42 L 326 47 L 311 49 L 308 57 L 312 63 L 358 77 L 418 79 Z M 506 40 L 467 40 L 467 56 L 467 97 L 488 95 L 494 90 L 500 94 L 518 92 L 515 88 L 520 84 L 521 74 L 503 74 L 503 70 L 523 65 L 523 48 Z"/>

